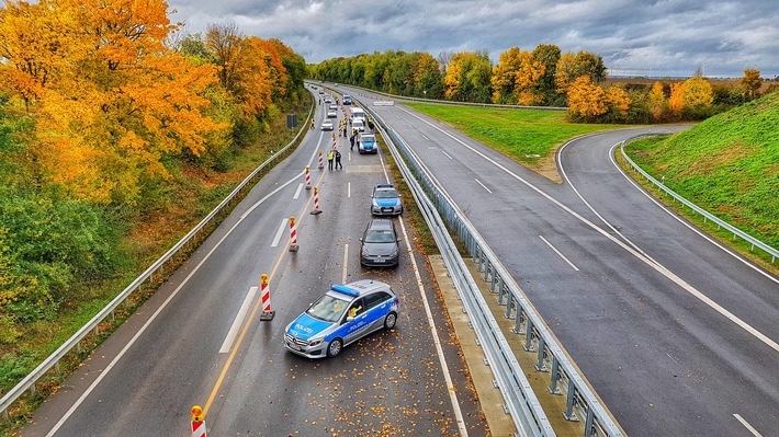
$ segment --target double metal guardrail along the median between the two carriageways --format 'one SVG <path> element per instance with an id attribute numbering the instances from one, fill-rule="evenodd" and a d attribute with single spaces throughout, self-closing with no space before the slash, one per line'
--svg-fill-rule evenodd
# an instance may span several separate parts
<path id="1" fill-rule="evenodd" d="M 366 107 L 363 105 L 363 107 Z M 554 436 L 545 413 L 532 391 L 515 352 L 506 342 L 492 311 L 464 265 L 448 229 L 465 244 L 471 257 L 484 272 L 483 279 L 490 281 L 490 291 L 498 303 L 506 306 L 504 317 L 516 319 L 513 332 L 526 336 L 524 350 L 537 355 L 537 371 L 550 373 L 549 391 L 566 396 L 564 416 L 569 421 L 585 419 L 584 435 L 622 436 L 621 428 L 601 405 L 595 392 L 582 378 L 578 369 L 547 330 L 519 285 L 500 264 L 478 231 L 458 208 L 431 173 L 416 158 L 408 145 L 375 112 L 366 108 L 395 157 L 406 183 L 411 188 L 425 218 L 441 249 L 458 292 L 471 317 L 477 338 L 496 376 L 497 387 L 507 403 L 520 435 Z M 400 157 L 400 154 L 403 157 Z"/>

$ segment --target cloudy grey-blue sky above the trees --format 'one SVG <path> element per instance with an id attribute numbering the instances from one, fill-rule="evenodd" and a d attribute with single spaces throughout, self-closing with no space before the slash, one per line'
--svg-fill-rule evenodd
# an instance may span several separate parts
<path id="1" fill-rule="evenodd" d="M 188 33 L 235 23 L 309 64 L 385 50 L 487 50 L 554 44 L 591 51 L 611 76 L 779 76 L 779 0 L 169 0 Z"/>

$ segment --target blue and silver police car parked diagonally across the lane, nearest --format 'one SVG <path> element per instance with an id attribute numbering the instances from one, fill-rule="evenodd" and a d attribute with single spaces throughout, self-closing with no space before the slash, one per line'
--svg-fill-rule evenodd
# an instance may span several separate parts
<path id="1" fill-rule="evenodd" d="M 335 357 L 349 344 L 397 322 L 398 298 L 390 285 L 362 279 L 334 285 L 284 330 L 284 347 L 308 358 Z"/>

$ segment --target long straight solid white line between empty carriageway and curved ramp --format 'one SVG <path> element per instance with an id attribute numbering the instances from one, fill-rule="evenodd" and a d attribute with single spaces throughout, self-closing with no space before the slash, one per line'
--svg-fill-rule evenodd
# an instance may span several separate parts
<path id="1" fill-rule="evenodd" d="M 489 163 L 492 163 L 493 165 L 495 165 L 496 168 L 503 170 L 504 172 L 506 172 L 506 173 L 507 173 L 508 175 L 510 175 L 511 177 L 513 177 L 513 179 L 516 179 L 517 181 L 519 181 L 519 182 L 521 182 L 522 184 L 524 184 L 528 188 L 534 191 L 534 192 L 538 193 L 540 196 L 542 196 L 542 197 L 545 198 L 546 200 L 551 202 L 552 204 L 556 205 L 558 208 L 561 208 L 561 209 L 564 210 L 565 212 L 569 214 L 571 216 L 573 216 L 573 217 L 576 218 L 577 220 L 579 220 L 579 221 L 582 221 L 583 223 L 587 225 L 590 229 L 592 229 L 594 231 L 600 233 L 600 234 L 603 235 L 606 239 L 610 240 L 612 243 L 619 245 L 620 248 L 622 248 L 623 250 L 625 250 L 625 251 L 626 251 L 628 253 L 630 253 L 631 255 L 635 256 L 637 260 L 642 261 L 644 264 L 646 264 L 646 265 L 650 266 L 651 268 L 654 268 L 655 272 L 659 273 L 661 275 L 663 275 L 663 276 L 665 276 L 666 278 L 668 278 L 668 279 L 670 279 L 671 281 L 674 281 L 676 285 L 678 285 L 679 287 L 681 287 L 684 290 L 686 290 L 687 292 L 689 292 L 689 294 L 692 295 L 693 297 L 698 298 L 698 299 L 699 299 L 700 301 L 702 301 L 703 303 L 708 304 L 711 309 L 713 309 L 714 311 L 719 312 L 720 314 L 722 314 L 723 317 L 725 317 L 726 319 L 729 319 L 731 322 L 735 323 L 736 325 L 741 326 L 744 331 L 748 332 L 749 334 L 752 334 L 754 337 L 756 337 L 756 338 L 759 340 L 760 342 L 765 343 L 768 347 L 772 348 L 772 349 L 776 350 L 776 352 L 779 352 L 779 343 L 772 341 L 771 338 L 769 338 L 767 335 L 765 335 L 765 334 L 761 333 L 760 331 L 756 330 L 755 327 L 753 327 L 752 325 L 749 325 L 749 324 L 746 323 L 745 321 L 738 319 L 735 314 L 733 314 L 732 312 L 727 311 L 725 308 L 723 308 L 723 307 L 720 306 L 719 303 L 714 302 L 711 298 L 709 298 L 708 296 L 703 295 L 701 291 L 699 291 L 698 289 L 696 289 L 696 288 L 692 287 L 691 285 L 687 284 L 684 279 L 681 279 L 680 277 L 678 277 L 678 276 L 677 276 L 676 274 L 674 274 L 671 271 L 667 269 L 665 266 L 655 263 L 652 258 L 645 256 L 645 255 L 642 254 L 640 251 L 636 251 L 635 249 L 631 248 L 630 245 L 628 245 L 626 243 L 622 242 L 621 240 L 618 240 L 617 238 L 614 238 L 613 235 L 611 235 L 609 232 L 607 232 L 606 230 L 603 230 L 603 229 L 600 228 L 599 226 L 597 226 L 597 225 L 595 225 L 594 222 L 587 220 L 585 217 L 583 217 L 582 215 L 579 215 L 579 214 L 576 212 L 575 210 L 568 208 L 567 206 L 563 205 L 563 204 L 562 204 L 560 200 L 557 200 L 556 198 L 554 198 L 554 197 L 550 196 L 549 194 L 546 194 L 543 189 L 541 189 L 541 188 L 539 188 L 538 186 L 535 186 L 535 185 L 531 184 L 530 182 L 526 181 L 526 180 L 522 179 L 520 175 L 518 175 L 518 174 L 511 172 L 511 170 L 507 169 L 505 165 L 503 165 L 503 164 L 500 164 L 499 162 L 497 162 L 496 160 L 494 160 L 494 159 L 487 157 L 486 154 L 479 152 L 479 151 L 476 150 L 475 148 L 473 148 L 473 147 L 466 145 L 465 142 L 461 141 L 459 138 L 454 137 L 453 135 L 449 134 L 448 131 L 445 131 L 445 130 L 443 130 L 443 129 L 441 129 L 441 128 L 439 128 L 439 127 L 437 127 L 437 126 L 433 126 L 430 122 L 428 122 L 428 120 L 426 120 L 426 119 L 424 119 L 424 118 L 417 116 L 416 114 L 409 112 L 409 111 L 406 110 L 406 108 L 400 107 L 400 111 L 407 112 L 407 113 L 408 113 L 409 115 L 411 115 L 413 117 L 416 117 L 416 118 L 418 118 L 420 122 L 430 125 L 432 128 L 438 129 L 439 131 L 441 131 L 441 134 L 448 136 L 449 138 L 451 138 L 451 139 L 453 139 L 454 141 L 459 142 L 460 145 L 462 145 L 462 146 L 465 147 L 466 149 L 468 149 L 468 150 L 471 150 L 472 152 L 476 153 L 477 156 L 484 158 L 484 160 L 486 160 L 487 162 L 489 162 Z M 443 189 L 443 188 L 441 188 L 441 189 Z M 443 189 L 443 192 L 449 196 L 449 193 L 447 193 L 445 189 Z M 451 196 L 450 196 L 450 198 L 451 198 Z"/>

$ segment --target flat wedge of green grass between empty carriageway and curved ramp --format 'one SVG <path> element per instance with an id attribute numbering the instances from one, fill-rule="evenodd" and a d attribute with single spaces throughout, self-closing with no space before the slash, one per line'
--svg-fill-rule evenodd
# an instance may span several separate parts
<path id="1" fill-rule="evenodd" d="M 407 105 L 449 123 L 468 137 L 484 142 L 555 182 L 562 180 L 557 174 L 554 153 L 565 141 L 580 135 L 626 127 L 625 125 L 567 123 L 567 113 L 562 111 L 418 103 Z"/>

